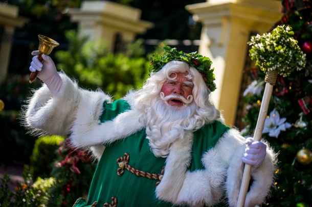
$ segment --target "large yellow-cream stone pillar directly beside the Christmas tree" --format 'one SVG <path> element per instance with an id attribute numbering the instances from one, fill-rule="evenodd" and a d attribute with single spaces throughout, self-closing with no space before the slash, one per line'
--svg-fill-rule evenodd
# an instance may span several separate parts
<path id="1" fill-rule="evenodd" d="M 217 89 L 212 99 L 229 125 L 235 121 L 250 33 L 267 32 L 281 18 L 281 8 L 273 0 L 208 0 L 186 6 L 202 23 L 198 53 L 213 62 Z"/>

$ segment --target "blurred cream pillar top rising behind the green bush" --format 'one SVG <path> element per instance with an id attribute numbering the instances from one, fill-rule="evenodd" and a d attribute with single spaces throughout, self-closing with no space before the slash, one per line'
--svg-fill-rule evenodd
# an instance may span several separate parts
<path id="1" fill-rule="evenodd" d="M 80 36 L 103 39 L 110 51 L 117 34 L 123 41 L 131 42 L 153 26 L 140 20 L 141 10 L 107 1 L 86 1 L 80 9 L 69 9 L 68 13 L 73 22 L 78 22 Z"/>

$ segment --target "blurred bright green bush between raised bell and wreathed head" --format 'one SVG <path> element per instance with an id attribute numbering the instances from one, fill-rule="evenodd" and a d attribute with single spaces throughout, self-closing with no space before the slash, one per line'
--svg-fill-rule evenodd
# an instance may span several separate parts
<path id="1" fill-rule="evenodd" d="M 150 62 L 142 57 L 141 40 L 128 44 L 124 53 L 113 54 L 102 40 L 86 41 L 74 31 L 67 32 L 66 37 L 69 48 L 56 52 L 57 67 L 78 80 L 83 88 L 100 88 L 121 98 L 129 89 L 142 86 Z"/>

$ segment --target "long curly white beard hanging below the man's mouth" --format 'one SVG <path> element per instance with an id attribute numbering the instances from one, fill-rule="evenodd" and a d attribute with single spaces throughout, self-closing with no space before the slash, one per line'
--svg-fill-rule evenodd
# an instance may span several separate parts
<path id="1" fill-rule="evenodd" d="M 171 144 L 184 139 L 185 130 L 193 130 L 197 106 L 194 102 L 183 107 L 169 106 L 160 97 L 153 106 L 145 108 L 143 118 L 147 139 L 152 152 L 157 157 L 167 157 Z"/>

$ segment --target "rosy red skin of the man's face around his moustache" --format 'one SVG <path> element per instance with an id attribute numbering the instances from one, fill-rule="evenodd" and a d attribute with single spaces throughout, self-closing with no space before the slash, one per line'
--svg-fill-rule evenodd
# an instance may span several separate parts
<path id="1" fill-rule="evenodd" d="M 181 95 L 187 99 L 189 95 L 192 95 L 193 83 L 185 77 L 187 73 L 172 73 L 171 76 L 174 77 L 175 74 L 176 79 L 167 80 L 164 83 L 161 92 L 164 93 L 165 97 L 168 95 Z M 170 98 L 167 102 L 170 106 L 175 107 L 182 107 L 184 105 L 181 98 Z"/>

